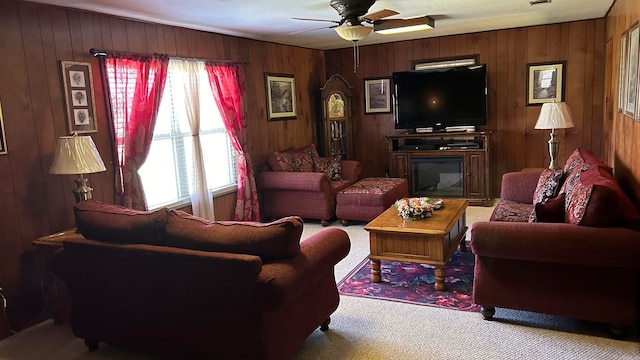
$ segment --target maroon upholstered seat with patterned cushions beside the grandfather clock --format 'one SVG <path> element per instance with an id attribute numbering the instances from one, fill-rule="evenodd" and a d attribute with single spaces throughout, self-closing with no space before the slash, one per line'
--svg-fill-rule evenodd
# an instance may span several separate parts
<path id="1" fill-rule="evenodd" d="M 313 144 L 274 152 L 256 178 L 265 219 L 300 216 L 323 226 L 336 216 L 336 194 L 358 181 L 360 162 L 320 157 Z"/>

